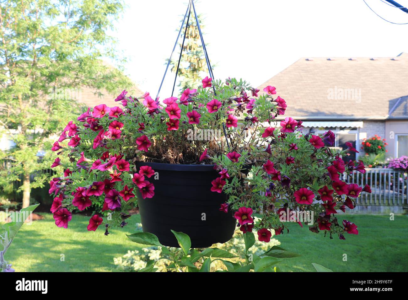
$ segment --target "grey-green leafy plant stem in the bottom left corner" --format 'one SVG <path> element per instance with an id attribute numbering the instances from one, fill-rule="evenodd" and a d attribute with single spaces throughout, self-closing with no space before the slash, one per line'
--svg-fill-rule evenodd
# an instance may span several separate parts
<path id="1" fill-rule="evenodd" d="M 20 230 L 25 220 L 31 216 L 34 209 L 36 209 L 40 204 L 34 204 L 29 207 L 23 208 L 20 211 L 16 211 L 10 214 L 11 222 L 3 225 L 5 230 L 0 235 L 0 244 L 3 246 L 3 249 L 0 251 L 0 272 L 14 272 L 14 269 L 11 269 L 11 264 L 4 260 L 4 255 L 9 249 L 11 243 L 16 237 L 17 232 Z"/>

